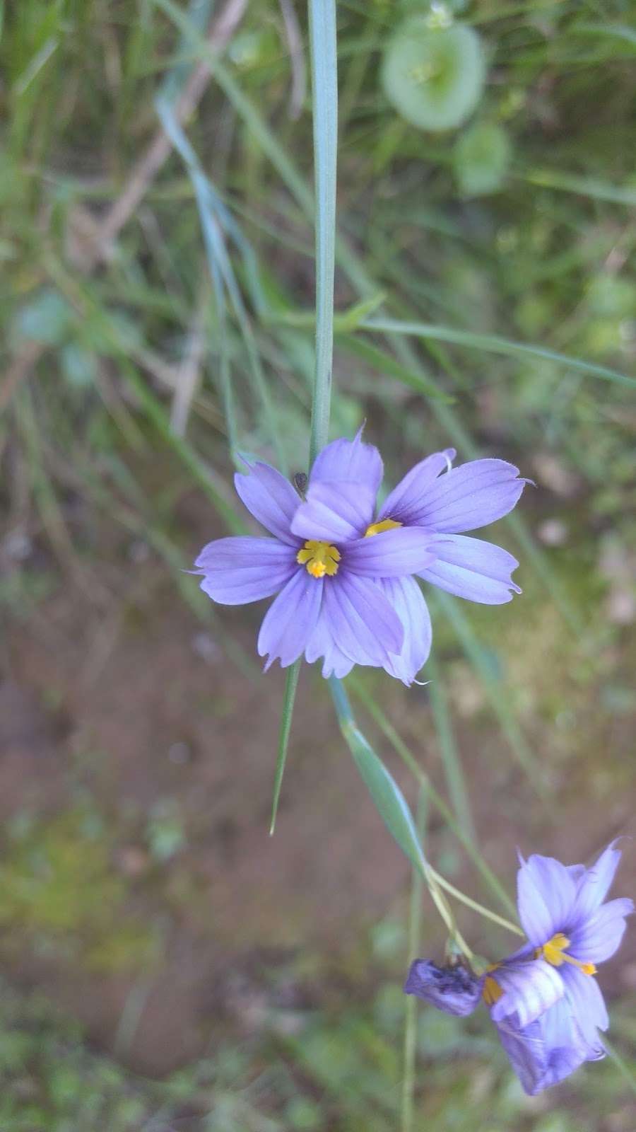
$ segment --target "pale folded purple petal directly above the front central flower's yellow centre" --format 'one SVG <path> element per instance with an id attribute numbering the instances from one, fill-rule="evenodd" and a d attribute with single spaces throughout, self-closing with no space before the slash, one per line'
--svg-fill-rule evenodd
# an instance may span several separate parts
<path id="1" fill-rule="evenodd" d="M 371 518 L 376 495 L 367 483 L 320 480 L 309 487 L 292 531 L 300 539 L 349 542 L 364 534 Z M 379 535 L 376 535 L 379 538 Z"/>

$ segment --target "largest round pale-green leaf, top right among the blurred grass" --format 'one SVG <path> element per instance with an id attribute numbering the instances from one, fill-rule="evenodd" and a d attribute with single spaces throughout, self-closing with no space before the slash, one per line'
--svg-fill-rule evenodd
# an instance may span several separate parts
<path id="1" fill-rule="evenodd" d="M 407 19 L 385 52 L 381 70 L 388 100 L 413 126 L 448 130 L 476 106 L 485 77 L 479 36 L 463 24 L 429 27 Z"/>

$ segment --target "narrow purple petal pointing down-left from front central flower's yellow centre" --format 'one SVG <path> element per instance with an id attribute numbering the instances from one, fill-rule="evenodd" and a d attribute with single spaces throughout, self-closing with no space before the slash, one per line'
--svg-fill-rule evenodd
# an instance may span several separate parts
<path id="1" fill-rule="evenodd" d="M 265 671 L 278 658 L 281 668 L 293 664 L 307 648 L 323 599 L 323 578 L 298 569 L 267 610 L 258 634 L 258 654 L 267 655 Z"/>

